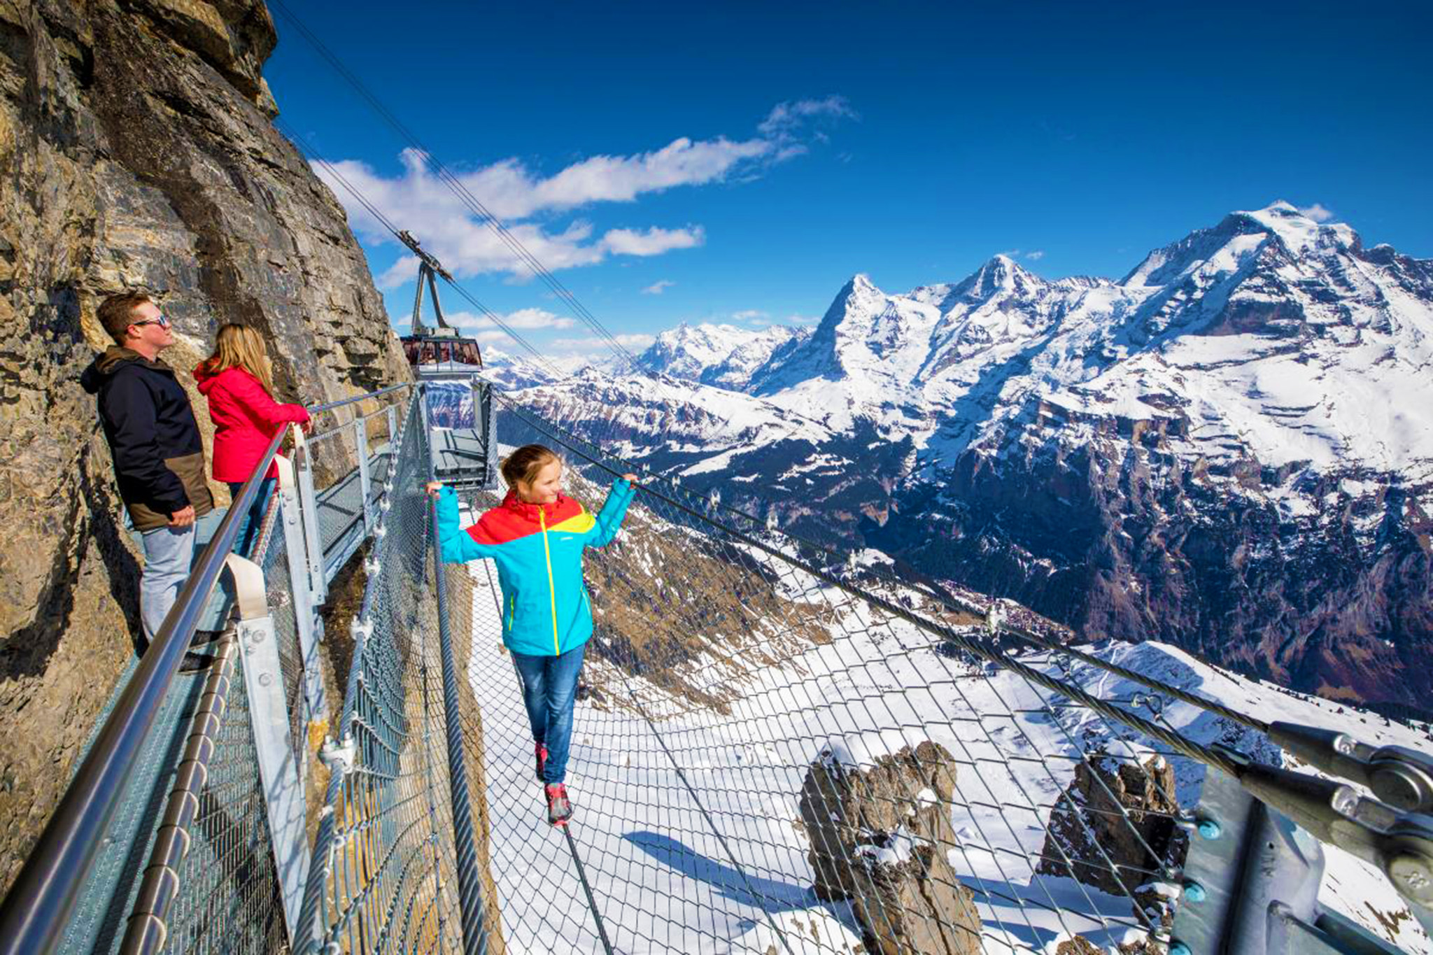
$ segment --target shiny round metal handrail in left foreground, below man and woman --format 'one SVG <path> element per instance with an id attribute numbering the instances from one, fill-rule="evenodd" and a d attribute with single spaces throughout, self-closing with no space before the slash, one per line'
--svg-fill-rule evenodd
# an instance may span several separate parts
<path id="1" fill-rule="evenodd" d="M 274 435 L 259 465 L 234 498 L 10 886 L 0 905 L 0 955 L 49 952 L 59 941 L 75 909 L 82 876 L 95 861 L 155 716 L 234 550 L 242 515 L 254 504 L 284 434 Z"/>

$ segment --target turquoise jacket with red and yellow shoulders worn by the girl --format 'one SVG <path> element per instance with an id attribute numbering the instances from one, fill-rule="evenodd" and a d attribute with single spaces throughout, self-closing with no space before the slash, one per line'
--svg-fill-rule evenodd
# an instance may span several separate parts
<path id="1" fill-rule="evenodd" d="M 503 643 L 514 653 L 557 656 L 592 636 L 592 600 L 582 578 L 582 551 L 616 537 L 636 494 L 628 481 L 612 483 L 593 517 L 570 497 L 527 504 L 509 491 L 503 503 L 459 527 L 457 494 L 438 494 L 438 544 L 443 561 L 460 564 L 492 557 L 503 591 Z"/>

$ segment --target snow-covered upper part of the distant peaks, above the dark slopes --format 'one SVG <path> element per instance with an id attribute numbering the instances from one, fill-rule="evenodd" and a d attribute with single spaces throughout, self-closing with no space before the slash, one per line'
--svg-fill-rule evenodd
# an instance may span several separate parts
<path id="1" fill-rule="evenodd" d="M 1050 282 L 1003 255 L 909 294 L 857 275 L 808 336 L 682 325 L 642 364 L 835 431 L 868 418 L 910 437 L 927 468 L 1045 402 L 1048 415 L 1172 425 L 1189 461 L 1426 481 L 1433 265 L 1379 252 L 1280 202 L 1151 252 L 1119 282 Z"/>

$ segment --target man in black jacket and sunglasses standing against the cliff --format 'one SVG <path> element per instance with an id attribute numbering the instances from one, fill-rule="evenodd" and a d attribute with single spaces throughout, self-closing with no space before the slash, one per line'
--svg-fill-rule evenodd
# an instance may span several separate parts
<path id="1" fill-rule="evenodd" d="M 99 321 L 116 344 L 85 369 L 80 384 L 99 395 L 119 495 L 142 534 L 139 616 L 145 639 L 153 640 L 189 577 L 195 518 L 214 510 L 214 498 L 189 397 L 159 361 L 159 352 L 175 344 L 169 321 L 139 292 L 105 299 Z"/>

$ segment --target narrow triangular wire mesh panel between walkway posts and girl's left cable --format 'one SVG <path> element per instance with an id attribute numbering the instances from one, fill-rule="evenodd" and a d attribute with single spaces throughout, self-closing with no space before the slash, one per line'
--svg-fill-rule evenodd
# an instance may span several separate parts
<path id="1" fill-rule="evenodd" d="M 331 776 L 304 899 L 301 951 L 464 945 L 447 707 L 428 533 L 427 432 L 410 404 L 354 623 Z M 461 743 L 459 743 L 461 746 Z"/>

